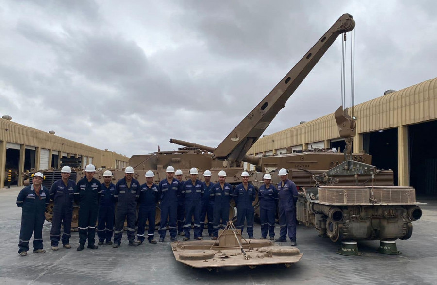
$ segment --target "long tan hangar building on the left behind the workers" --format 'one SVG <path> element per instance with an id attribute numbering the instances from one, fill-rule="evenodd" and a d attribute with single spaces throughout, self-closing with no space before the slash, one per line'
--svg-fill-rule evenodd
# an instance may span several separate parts
<path id="1" fill-rule="evenodd" d="M 0 118 L 0 188 L 7 183 L 8 170 L 12 171 L 15 184 L 21 186 L 23 172 L 59 168 L 61 158 L 81 158 L 83 168 L 87 164 L 113 169 L 128 166 L 126 156 L 70 141 L 54 132 L 27 127 L 11 119 L 10 116 Z"/>

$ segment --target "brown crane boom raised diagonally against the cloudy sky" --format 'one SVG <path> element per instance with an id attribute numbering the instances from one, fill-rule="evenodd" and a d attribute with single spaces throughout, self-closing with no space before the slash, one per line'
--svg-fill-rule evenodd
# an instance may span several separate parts
<path id="1" fill-rule="evenodd" d="M 343 14 L 273 90 L 218 145 L 213 156 L 219 160 L 228 160 L 231 166 L 238 165 L 336 38 L 344 32 L 352 31 L 354 27 L 355 21 L 352 15 Z"/>

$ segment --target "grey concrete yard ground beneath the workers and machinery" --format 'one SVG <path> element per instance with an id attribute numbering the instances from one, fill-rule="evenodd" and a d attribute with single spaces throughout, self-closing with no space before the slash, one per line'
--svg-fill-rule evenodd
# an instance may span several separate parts
<path id="1" fill-rule="evenodd" d="M 413 223 L 413 236 L 396 242 L 401 255 L 376 253 L 378 241 L 359 242 L 362 256 L 338 255 L 340 243 L 299 225 L 297 242 L 303 257 L 290 268 L 273 265 L 208 272 L 175 261 L 169 236 L 164 243 L 130 247 L 124 234 L 118 249 L 105 245 L 77 252 L 76 232 L 70 239 L 72 249 L 53 252 L 49 222 L 43 228 L 47 253 L 32 253 L 31 247 L 28 256 L 19 257 L 21 208 L 15 204 L 19 190 L 0 189 L 0 284 L 437 284 L 436 199 L 420 200 L 428 204 L 422 206 L 423 217 Z M 258 224 L 254 233 L 260 238 Z"/>

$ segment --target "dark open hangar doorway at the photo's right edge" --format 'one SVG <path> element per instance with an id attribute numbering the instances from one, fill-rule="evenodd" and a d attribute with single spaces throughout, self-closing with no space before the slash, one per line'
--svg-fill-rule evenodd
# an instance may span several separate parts
<path id="1" fill-rule="evenodd" d="M 418 195 L 437 196 L 437 121 L 408 126 L 410 186 Z"/>

